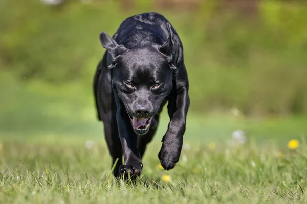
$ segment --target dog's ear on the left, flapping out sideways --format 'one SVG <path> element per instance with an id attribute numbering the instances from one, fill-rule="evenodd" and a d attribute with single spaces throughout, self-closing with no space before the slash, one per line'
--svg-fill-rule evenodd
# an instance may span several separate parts
<path id="1" fill-rule="evenodd" d="M 101 45 L 108 50 L 113 59 L 121 56 L 123 53 L 127 52 L 124 45 L 119 45 L 115 40 L 113 40 L 106 32 L 101 32 L 99 35 Z"/>

